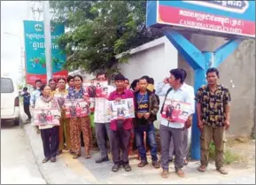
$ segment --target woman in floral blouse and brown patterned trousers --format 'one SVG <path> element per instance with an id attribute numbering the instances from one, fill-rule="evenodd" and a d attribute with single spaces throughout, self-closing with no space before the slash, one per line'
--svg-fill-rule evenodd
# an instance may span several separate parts
<path id="1" fill-rule="evenodd" d="M 68 99 L 85 99 L 89 103 L 89 97 L 85 96 L 86 90 L 82 88 L 82 77 L 74 75 L 74 89 L 68 89 Z M 90 158 L 89 150 L 92 147 L 92 133 L 89 116 L 70 118 L 70 136 L 74 157 L 81 156 L 81 132 L 85 148 L 85 158 Z"/>

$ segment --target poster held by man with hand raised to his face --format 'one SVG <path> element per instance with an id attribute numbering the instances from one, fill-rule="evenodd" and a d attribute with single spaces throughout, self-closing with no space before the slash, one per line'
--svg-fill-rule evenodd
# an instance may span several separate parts
<path id="1" fill-rule="evenodd" d="M 190 112 L 191 104 L 167 99 L 164 104 L 162 118 L 169 119 L 172 122 L 185 123 L 190 116 Z"/>

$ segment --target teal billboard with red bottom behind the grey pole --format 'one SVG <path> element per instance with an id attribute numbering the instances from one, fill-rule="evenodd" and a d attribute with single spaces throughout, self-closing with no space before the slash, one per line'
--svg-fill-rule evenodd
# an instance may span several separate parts
<path id="1" fill-rule="evenodd" d="M 51 62 L 53 78 L 66 77 L 67 71 L 63 69 L 66 55 L 58 46 L 58 37 L 65 33 L 63 24 L 52 24 L 51 36 Z M 46 81 L 46 60 L 44 47 L 44 29 L 42 21 L 24 20 L 25 52 L 27 83 L 34 84 L 35 80 Z"/>

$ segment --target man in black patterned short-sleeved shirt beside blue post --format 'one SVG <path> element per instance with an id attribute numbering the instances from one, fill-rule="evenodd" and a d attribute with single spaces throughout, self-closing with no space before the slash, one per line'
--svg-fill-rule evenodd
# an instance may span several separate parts
<path id="1" fill-rule="evenodd" d="M 201 130 L 201 166 L 199 172 L 206 172 L 209 145 L 215 145 L 215 166 L 221 174 L 228 174 L 223 168 L 224 133 L 229 129 L 229 89 L 218 84 L 219 71 L 209 68 L 206 72 L 207 85 L 198 89 L 196 95 L 198 127 Z"/>

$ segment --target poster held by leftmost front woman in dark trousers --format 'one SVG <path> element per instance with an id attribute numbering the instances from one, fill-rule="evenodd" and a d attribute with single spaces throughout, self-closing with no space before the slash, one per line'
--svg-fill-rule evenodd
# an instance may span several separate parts
<path id="1" fill-rule="evenodd" d="M 59 125 L 60 112 L 58 109 L 34 109 L 33 119 L 35 126 Z"/>

